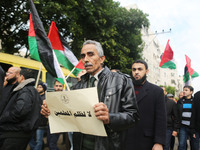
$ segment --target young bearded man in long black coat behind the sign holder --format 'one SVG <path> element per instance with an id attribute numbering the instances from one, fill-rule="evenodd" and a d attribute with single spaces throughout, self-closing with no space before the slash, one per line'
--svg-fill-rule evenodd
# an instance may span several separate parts
<path id="1" fill-rule="evenodd" d="M 133 84 L 140 120 L 128 130 L 127 150 L 163 150 L 166 142 L 166 108 L 163 90 L 146 80 L 148 65 L 136 60 L 132 65 Z"/>

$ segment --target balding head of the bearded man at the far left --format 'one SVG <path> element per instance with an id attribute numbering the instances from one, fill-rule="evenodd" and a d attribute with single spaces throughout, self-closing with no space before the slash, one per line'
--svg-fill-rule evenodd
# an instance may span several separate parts
<path id="1" fill-rule="evenodd" d="M 6 72 L 6 81 L 8 84 L 15 84 L 19 78 L 19 73 L 20 73 L 20 68 L 19 67 L 10 67 L 8 71 Z"/>

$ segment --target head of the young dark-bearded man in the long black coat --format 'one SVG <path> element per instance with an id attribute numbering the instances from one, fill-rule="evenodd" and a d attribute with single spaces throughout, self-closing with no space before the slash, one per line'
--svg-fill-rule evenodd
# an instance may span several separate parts
<path id="1" fill-rule="evenodd" d="M 148 74 L 148 65 L 144 60 L 136 60 L 132 64 L 132 75 L 134 85 L 143 85 Z"/>

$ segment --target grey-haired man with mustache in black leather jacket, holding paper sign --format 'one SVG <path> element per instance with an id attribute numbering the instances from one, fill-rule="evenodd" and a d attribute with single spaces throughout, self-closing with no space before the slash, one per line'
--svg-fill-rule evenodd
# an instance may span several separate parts
<path id="1" fill-rule="evenodd" d="M 99 42 L 88 40 L 81 49 L 81 59 L 87 73 L 74 89 L 91 87 L 90 80 L 95 79 L 99 103 L 94 105 L 97 119 L 104 123 L 108 137 L 73 134 L 74 150 L 123 150 L 128 128 L 138 120 L 138 109 L 131 78 L 124 74 L 111 72 L 106 66 L 102 46 Z M 49 110 L 42 106 L 42 114 Z"/>

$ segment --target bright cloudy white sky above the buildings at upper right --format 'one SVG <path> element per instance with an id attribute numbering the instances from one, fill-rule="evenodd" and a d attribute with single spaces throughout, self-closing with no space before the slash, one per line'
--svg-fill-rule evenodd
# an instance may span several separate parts
<path id="1" fill-rule="evenodd" d="M 152 32 L 169 31 L 159 34 L 157 39 L 166 46 L 169 39 L 174 51 L 179 75 L 184 74 L 185 54 L 191 59 L 192 68 L 200 74 L 200 0 L 114 0 L 125 7 L 136 4 L 148 14 Z M 194 91 L 200 90 L 200 77 L 192 81 Z"/>

